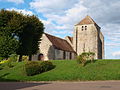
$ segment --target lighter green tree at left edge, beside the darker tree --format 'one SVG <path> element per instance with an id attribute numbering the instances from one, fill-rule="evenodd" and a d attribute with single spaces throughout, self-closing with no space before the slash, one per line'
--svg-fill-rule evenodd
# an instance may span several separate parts
<path id="1" fill-rule="evenodd" d="M 18 40 L 13 37 L 13 31 L 8 27 L 8 23 L 16 12 L 0 10 L 0 57 L 8 58 L 16 53 Z"/>

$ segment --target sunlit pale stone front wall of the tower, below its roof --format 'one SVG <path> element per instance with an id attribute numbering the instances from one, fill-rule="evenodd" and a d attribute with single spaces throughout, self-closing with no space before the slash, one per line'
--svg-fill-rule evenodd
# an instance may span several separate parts
<path id="1" fill-rule="evenodd" d="M 87 29 L 85 29 L 85 27 Z M 83 52 L 94 52 L 98 59 L 98 28 L 94 24 L 77 25 L 74 30 L 73 47 L 80 55 Z M 77 47 L 77 48 L 76 48 Z M 104 46 L 103 46 L 104 47 Z"/>

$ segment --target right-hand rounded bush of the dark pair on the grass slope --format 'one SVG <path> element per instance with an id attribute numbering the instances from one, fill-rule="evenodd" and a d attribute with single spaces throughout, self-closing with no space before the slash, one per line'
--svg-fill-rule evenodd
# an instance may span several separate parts
<path id="1" fill-rule="evenodd" d="M 41 72 L 46 72 L 49 71 L 51 69 L 53 69 L 55 66 L 52 64 L 52 62 L 49 61 L 43 61 L 40 64 L 40 71 Z"/>

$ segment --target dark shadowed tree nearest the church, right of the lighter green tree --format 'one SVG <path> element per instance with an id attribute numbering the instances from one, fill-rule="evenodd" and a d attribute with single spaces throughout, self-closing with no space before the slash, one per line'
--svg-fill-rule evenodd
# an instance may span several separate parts
<path id="1" fill-rule="evenodd" d="M 23 32 L 19 34 L 19 42 L 21 43 L 18 49 L 19 61 L 21 61 L 22 55 L 28 55 L 31 60 L 32 55 L 37 53 L 43 30 L 43 24 L 36 16 L 25 17 Z"/>

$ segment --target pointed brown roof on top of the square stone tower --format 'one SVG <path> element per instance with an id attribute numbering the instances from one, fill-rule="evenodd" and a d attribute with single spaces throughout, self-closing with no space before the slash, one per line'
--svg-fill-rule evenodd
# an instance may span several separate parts
<path id="1" fill-rule="evenodd" d="M 88 15 L 76 25 L 84 25 L 84 24 L 94 24 L 95 26 L 99 27 L 96 24 L 96 22 Z"/>

